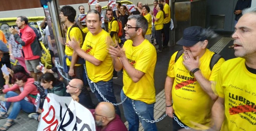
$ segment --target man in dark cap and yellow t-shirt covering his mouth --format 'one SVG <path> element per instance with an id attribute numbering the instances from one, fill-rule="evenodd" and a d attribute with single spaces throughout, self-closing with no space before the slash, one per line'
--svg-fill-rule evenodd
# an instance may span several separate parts
<path id="1" fill-rule="evenodd" d="M 183 55 L 176 59 L 175 52 L 171 56 L 164 86 L 166 114 L 171 118 L 177 118 L 184 126 L 195 129 L 197 128 L 191 121 L 212 126 L 211 107 L 217 96 L 211 89 L 211 83 L 225 61 L 220 58 L 210 69 L 214 52 L 206 49 L 209 32 L 211 30 L 199 26 L 184 30 L 183 38 L 177 42 L 183 45 Z M 177 121 L 173 119 L 173 131 L 183 128 Z"/>

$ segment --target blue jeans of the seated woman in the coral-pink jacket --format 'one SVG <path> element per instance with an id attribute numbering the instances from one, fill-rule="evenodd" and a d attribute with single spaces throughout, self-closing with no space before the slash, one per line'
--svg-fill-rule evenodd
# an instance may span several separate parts
<path id="1" fill-rule="evenodd" d="M 16 92 L 8 91 L 5 94 L 5 98 L 19 96 Z M 5 107 L 7 108 L 7 111 L 9 110 L 9 107 L 11 105 L 11 102 L 5 102 Z M 25 99 L 22 99 L 21 101 L 13 102 L 12 111 L 9 114 L 8 119 L 16 119 L 19 111 L 25 111 L 26 113 L 35 113 L 36 107 L 34 104 L 30 103 L 29 101 L 26 101 Z M 6 112 L 3 109 L 1 109 L 1 112 Z"/>

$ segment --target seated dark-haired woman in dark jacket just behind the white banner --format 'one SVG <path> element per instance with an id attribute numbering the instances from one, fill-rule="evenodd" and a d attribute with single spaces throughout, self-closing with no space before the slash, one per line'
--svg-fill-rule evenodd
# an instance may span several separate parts
<path id="1" fill-rule="evenodd" d="M 63 82 L 57 80 L 52 73 L 45 73 L 40 78 L 39 81 L 43 89 L 46 90 L 47 93 L 53 93 L 58 96 L 64 96 L 66 94 L 66 88 Z M 40 120 L 40 115 L 42 113 L 44 100 L 40 102 L 40 108 L 37 113 L 31 113 L 28 115 L 29 118 Z"/>

